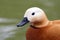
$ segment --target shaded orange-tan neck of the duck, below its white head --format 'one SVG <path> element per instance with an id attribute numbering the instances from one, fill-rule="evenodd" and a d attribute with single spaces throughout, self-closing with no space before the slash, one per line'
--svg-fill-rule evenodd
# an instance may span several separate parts
<path id="1" fill-rule="evenodd" d="M 37 27 L 37 28 L 42 28 L 42 27 L 46 27 L 49 24 L 49 20 L 48 19 L 44 19 L 42 21 L 36 21 L 34 23 L 31 23 L 32 26 Z"/>

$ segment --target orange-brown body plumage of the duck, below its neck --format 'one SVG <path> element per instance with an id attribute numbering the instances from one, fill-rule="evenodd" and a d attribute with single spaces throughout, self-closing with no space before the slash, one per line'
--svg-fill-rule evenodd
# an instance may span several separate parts
<path id="1" fill-rule="evenodd" d="M 50 21 L 44 28 L 29 27 L 26 33 L 27 40 L 60 40 L 60 20 Z"/>

